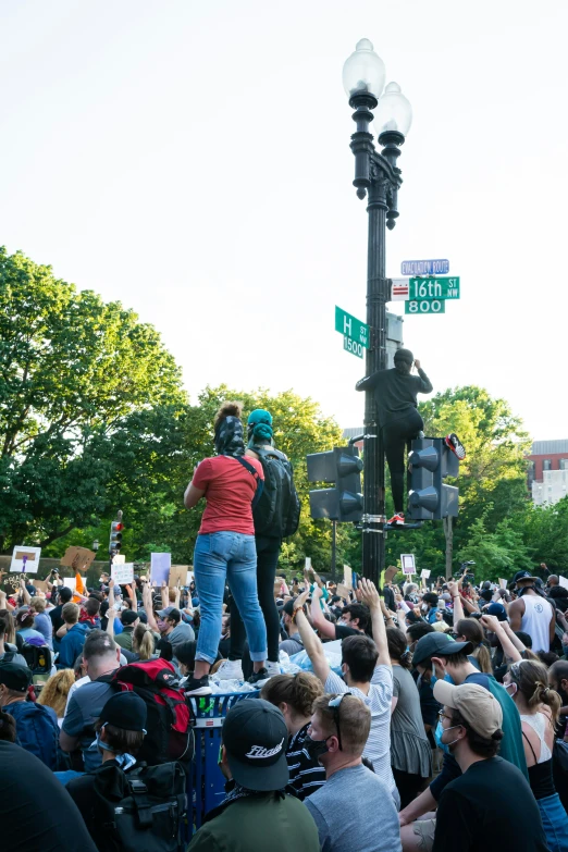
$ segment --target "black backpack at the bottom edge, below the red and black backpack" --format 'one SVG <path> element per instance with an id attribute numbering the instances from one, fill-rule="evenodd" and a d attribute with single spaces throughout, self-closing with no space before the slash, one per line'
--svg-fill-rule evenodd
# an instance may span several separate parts
<path id="1" fill-rule="evenodd" d="M 129 771 L 102 764 L 94 776 L 90 813 L 85 816 L 99 850 L 181 852 L 185 849 L 182 825 L 187 779 L 178 763 L 137 764 Z"/>

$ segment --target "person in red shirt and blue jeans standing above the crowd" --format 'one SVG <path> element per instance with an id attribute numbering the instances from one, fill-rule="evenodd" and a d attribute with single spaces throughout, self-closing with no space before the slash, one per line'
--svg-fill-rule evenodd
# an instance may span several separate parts
<path id="1" fill-rule="evenodd" d="M 267 628 L 257 593 L 257 551 L 252 501 L 262 487 L 262 465 L 245 458 L 240 406 L 225 403 L 218 411 L 214 443 L 218 455 L 203 459 L 195 469 L 185 492 L 186 508 L 207 501 L 195 545 L 194 573 L 199 595 L 201 626 L 197 640 L 195 670 L 186 682 L 190 695 L 208 695 L 209 670 L 217 659 L 225 581 L 243 616 L 250 658 L 251 683 L 268 677 Z"/>

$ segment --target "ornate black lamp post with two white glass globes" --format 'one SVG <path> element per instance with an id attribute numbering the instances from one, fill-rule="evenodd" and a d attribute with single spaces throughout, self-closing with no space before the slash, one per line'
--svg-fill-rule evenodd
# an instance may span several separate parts
<path id="1" fill-rule="evenodd" d="M 370 348 L 367 349 L 367 375 L 386 369 L 386 302 L 390 293 L 385 279 L 385 227 L 392 230 L 398 217 L 397 196 L 403 181 L 396 161 L 412 122 L 410 103 L 398 84 L 390 83 L 383 94 L 384 81 L 384 62 L 374 52 L 369 39 L 362 38 L 343 66 L 343 85 L 349 106 L 355 110 L 353 120 L 357 125 L 350 144 L 355 155 L 353 183 L 358 198 L 369 198 L 367 324 L 370 328 Z M 375 149 L 369 132 L 373 120 L 382 151 Z M 383 440 L 378 429 L 372 391 L 365 395 L 363 453 L 362 570 L 363 576 L 378 585 L 384 570 L 386 517 Z"/>

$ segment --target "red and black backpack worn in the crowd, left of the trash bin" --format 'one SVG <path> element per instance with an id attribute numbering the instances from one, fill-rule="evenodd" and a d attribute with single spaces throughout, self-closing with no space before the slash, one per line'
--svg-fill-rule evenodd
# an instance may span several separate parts
<path id="1" fill-rule="evenodd" d="M 170 761 L 186 764 L 195 751 L 192 705 L 177 688 L 174 667 L 166 659 L 147 659 L 122 666 L 110 682 L 120 691 L 132 691 L 143 699 L 148 712 L 138 761 L 158 766 Z"/>

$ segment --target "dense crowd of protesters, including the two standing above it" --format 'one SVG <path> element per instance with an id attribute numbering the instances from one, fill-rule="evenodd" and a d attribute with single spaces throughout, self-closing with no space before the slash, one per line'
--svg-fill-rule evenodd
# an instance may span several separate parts
<path id="1" fill-rule="evenodd" d="M 0 592 L 4 848 L 568 852 L 560 578 L 286 579 L 292 467 L 270 412 L 247 445 L 239 415 L 185 494 L 192 585 Z M 234 681 L 225 795 L 189 839 L 194 712 Z"/>

